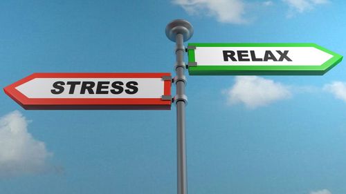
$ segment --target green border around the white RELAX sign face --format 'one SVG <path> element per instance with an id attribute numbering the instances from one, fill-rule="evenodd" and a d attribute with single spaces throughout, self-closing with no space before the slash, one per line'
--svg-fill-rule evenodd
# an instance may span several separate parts
<path id="1" fill-rule="evenodd" d="M 343 59 L 338 55 L 318 46 L 316 43 L 188 43 L 188 61 L 197 62 L 189 66 L 190 75 L 324 75 Z M 194 58 L 194 49 L 190 47 L 314 47 L 333 55 L 322 66 L 198 66 Z"/>

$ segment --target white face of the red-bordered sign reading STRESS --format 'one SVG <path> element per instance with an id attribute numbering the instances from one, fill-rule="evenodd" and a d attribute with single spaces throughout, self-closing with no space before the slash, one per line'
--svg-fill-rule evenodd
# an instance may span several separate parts
<path id="1" fill-rule="evenodd" d="M 161 98 L 161 78 L 35 78 L 17 86 L 35 98 Z"/>

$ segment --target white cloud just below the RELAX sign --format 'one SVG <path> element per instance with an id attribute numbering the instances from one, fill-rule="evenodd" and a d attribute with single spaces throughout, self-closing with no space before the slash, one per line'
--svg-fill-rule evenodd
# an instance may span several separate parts
<path id="1" fill-rule="evenodd" d="M 225 90 L 228 104 L 245 104 L 248 108 L 266 106 L 291 97 L 288 86 L 257 76 L 237 76 L 235 85 Z"/>

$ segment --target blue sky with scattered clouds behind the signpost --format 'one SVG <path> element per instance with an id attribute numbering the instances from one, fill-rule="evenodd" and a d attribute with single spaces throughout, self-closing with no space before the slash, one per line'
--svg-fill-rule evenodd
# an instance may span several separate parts
<path id="1" fill-rule="evenodd" d="M 1 1 L 0 85 L 33 72 L 174 73 L 165 26 L 178 18 L 194 26 L 189 42 L 317 43 L 345 55 L 345 9 L 327 0 Z M 346 193 L 345 72 L 341 62 L 323 76 L 188 76 L 189 193 Z M 0 98 L 0 193 L 176 193 L 174 106 L 33 111 Z"/>

